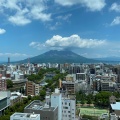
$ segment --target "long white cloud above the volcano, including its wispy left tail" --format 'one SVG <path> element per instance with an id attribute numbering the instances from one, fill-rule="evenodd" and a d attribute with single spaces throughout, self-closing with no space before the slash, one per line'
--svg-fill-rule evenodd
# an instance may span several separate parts
<path id="1" fill-rule="evenodd" d="M 71 35 L 70 37 L 62 37 L 55 35 L 45 43 L 40 44 L 38 42 L 32 42 L 29 46 L 37 49 L 49 48 L 49 49 L 74 49 L 74 48 L 94 48 L 106 43 L 105 40 L 96 39 L 82 39 L 78 35 Z"/>

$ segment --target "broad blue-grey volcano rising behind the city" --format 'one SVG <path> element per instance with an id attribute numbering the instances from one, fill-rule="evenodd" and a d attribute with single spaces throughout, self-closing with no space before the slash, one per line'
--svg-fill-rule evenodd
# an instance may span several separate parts
<path id="1" fill-rule="evenodd" d="M 18 61 L 27 63 L 28 59 Z M 72 51 L 50 50 L 44 54 L 30 58 L 31 63 L 94 63 L 97 60 L 82 57 Z"/>

